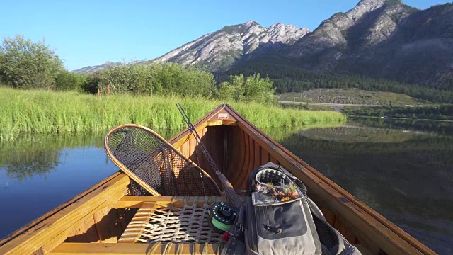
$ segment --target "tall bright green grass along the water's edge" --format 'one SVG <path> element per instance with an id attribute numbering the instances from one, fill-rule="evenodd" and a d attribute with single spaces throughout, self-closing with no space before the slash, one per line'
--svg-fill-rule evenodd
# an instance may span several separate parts
<path id="1" fill-rule="evenodd" d="M 0 87 L 0 140 L 13 140 L 21 132 L 105 131 L 136 123 L 154 129 L 181 129 L 181 103 L 195 121 L 224 103 L 207 98 L 162 96 L 103 96 L 73 91 L 24 91 Z M 330 111 L 301 111 L 260 103 L 231 103 L 258 128 L 303 127 L 314 123 L 343 123 L 345 115 Z"/>

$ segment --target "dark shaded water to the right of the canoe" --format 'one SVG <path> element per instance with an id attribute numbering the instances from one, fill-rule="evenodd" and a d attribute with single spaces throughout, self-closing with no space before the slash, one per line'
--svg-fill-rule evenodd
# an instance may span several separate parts
<path id="1" fill-rule="evenodd" d="M 280 143 L 439 254 L 453 254 L 453 123 L 356 119 Z"/>

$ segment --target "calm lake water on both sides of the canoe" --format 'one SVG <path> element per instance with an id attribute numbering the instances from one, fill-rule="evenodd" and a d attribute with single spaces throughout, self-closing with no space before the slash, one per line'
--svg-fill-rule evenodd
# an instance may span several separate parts
<path id="1" fill-rule="evenodd" d="M 268 134 L 437 253 L 453 254 L 453 123 L 352 119 Z M 0 239 L 117 171 L 104 135 L 0 142 Z"/>

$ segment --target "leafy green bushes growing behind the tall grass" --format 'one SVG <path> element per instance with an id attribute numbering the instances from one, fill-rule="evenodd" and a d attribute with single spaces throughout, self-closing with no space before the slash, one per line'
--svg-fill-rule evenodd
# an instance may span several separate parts
<path id="1" fill-rule="evenodd" d="M 112 65 L 99 72 L 76 74 L 64 68 L 44 42 L 22 35 L 5 38 L 0 48 L 1 84 L 16 89 L 55 89 L 108 94 L 201 96 L 234 101 L 275 101 L 273 81 L 260 74 L 231 75 L 217 84 L 201 67 L 174 63 Z"/>

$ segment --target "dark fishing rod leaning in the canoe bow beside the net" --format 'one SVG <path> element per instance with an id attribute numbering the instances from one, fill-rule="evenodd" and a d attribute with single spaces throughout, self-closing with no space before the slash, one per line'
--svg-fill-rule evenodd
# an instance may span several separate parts
<path id="1" fill-rule="evenodd" d="M 224 174 L 219 170 L 219 167 L 217 167 L 217 164 L 215 164 L 214 159 L 212 159 L 210 152 L 207 151 L 205 143 L 201 140 L 200 135 L 198 135 L 197 130 L 195 130 L 195 127 L 193 126 L 192 122 L 190 121 L 189 116 L 185 113 L 183 107 L 180 105 L 180 103 L 176 103 L 176 107 L 178 107 L 179 112 L 181 115 L 183 115 L 184 122 L 188 125 L 188 128 L 190 132 L 193 133 L 193 136 L 195 137 L 195 140 L 197 141 L 197 144 L 200 146 L 201 151 L 205 155 L 207 162 L 210 164 L 212 169 L 214 170 L 215 174 L 217 177 L 220 179 L 220 182 L 222 183 L 222 186 L 224 187 L 224 190 L 226 191 L 226 194 L 228 194 L 229 198 L 233 202 L 233 204 L 236 207 L 241 207 L 242 203 L 241 200 L 239 200 L 239 196 L 236 194 L 236 191 L 234 191 L 233 186 L 231 183 L 226 179 Z"/>

